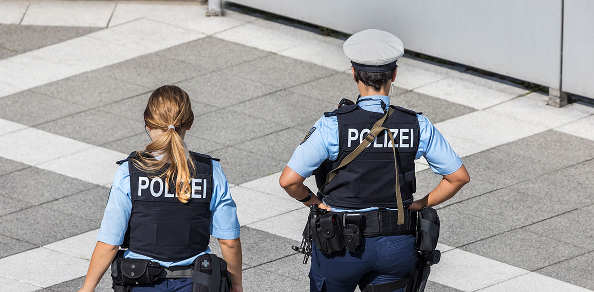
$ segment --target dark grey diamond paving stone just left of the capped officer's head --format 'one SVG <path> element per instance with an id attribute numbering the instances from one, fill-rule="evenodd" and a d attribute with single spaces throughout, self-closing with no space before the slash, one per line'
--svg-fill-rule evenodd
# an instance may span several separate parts
<path id="1" fill-rule="evenodd" d="M 278 89 L 295 86 L 336 71 L 280 55 L 271 55 L 222 70 L 225 73 L 270 84 Z"/>

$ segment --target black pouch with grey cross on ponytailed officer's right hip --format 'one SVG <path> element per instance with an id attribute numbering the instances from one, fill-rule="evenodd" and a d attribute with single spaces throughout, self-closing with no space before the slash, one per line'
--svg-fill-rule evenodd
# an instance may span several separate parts
<path id="1" fill-rule="evenodd" d="M 227 262 L 214 253 L 205 253 L 194 261 L 192 281 L 192 292 L 228 292 L 232 286 Z"/>

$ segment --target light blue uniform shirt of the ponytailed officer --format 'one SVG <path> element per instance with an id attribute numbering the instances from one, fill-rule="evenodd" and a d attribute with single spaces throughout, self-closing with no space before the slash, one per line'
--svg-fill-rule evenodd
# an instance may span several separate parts
<path id="1" fill-rule="evenodd" d="M 237 219 L 237 207 L 229 191 L 229 182 L 218 161 L 213 161 L 213 184 L 213 196 L 210 199 L 210 235 L 221 239 L 238 238 L 239 221 Z M 113 246 L 119 246 L 124 243 L 124 236 L 132 211 L 130 192 L 128 162 L 124 162 L 119 166 L 113 178 L 108 204 L 105 207 L 99 234 L 97 234 L 98 241 Z M 179 262 L 163 262 L 162 260 L 155 260 L 144 255 L 139 255 L 130 250 L 124 253 L 124 257 L 150 259 L 160 263 L 162 266 L 186 266 L 191 265 L 198 256 L 204 255 L 204 253 L 210 253 L 210 247 L 207 247 L 203 253 Z"/>

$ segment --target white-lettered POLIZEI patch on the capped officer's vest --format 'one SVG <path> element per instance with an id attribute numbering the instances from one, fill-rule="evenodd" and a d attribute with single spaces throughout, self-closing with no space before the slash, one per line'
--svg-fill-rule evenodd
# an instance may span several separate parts
<path id="1" fill-rule="evenodd" d="M 384 127 L 389 128 L 394 136 L 394 147 L 399 152 L 412 152 L 418 147 L 419 127 L 415 124 L 384 124 Z M 371 128 L 369 125 L 346 124 L 343 129 L 345 132 L 346 143 L 342 145 L 343 150 L 355 150 L 359 144 L 363 142 L 365 136 L 369 133 Z M 392 141 L 386 131 L 381 132 L 375 138 L 374 142 L 369 143 L 365 151 L 372 152 L 392 152 Z"/>

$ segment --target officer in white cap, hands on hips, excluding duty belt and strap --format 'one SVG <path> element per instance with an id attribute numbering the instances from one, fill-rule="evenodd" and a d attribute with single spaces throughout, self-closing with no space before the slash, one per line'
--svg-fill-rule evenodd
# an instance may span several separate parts
<path id="1" fill-rule="evenodd" d="M 349 37 L 343 49 L 351 60 L 361 95 L 355 105 L 327 112 L 314 124 L 283 170 L 280 186 L 306 206 L 316 203 L 332 212 L 397 209 L 394 146 L 403 209 L 418 211 L 450 199 L 470 180 L 462 160 L 424 115 L 404 108 L 390 109 L 388 92 L 396 79 L 396 61 L 404 54 L 402 41 L 393 34 L 369 29 Z M 374 123 L 388 111 L 391 115 L 383 125 L 393 133 L 394 141 L 386 131 L 375 139 L 367 137 Z M 373 141 L 322 188 L 323 201 L 304 186 L 305 178 L 321 164 L 328 163 L 330 169 L 338 167 L 364 139 Z M 414 160 L 421 156 L 432 171 L 443 175 L 443 180 L 429 194 L 413 200 Z M 394 220 L 382 228 L 396 226 Z M 358 284 L 365 287 L 393 282 L 405 277 L 415 265 L 413 235 L 380 234 L 365 236 L 362 241 L 359 253 L 343 250 L 327 255 L 312 247 L 310 291 L 353 291 Z"/>

